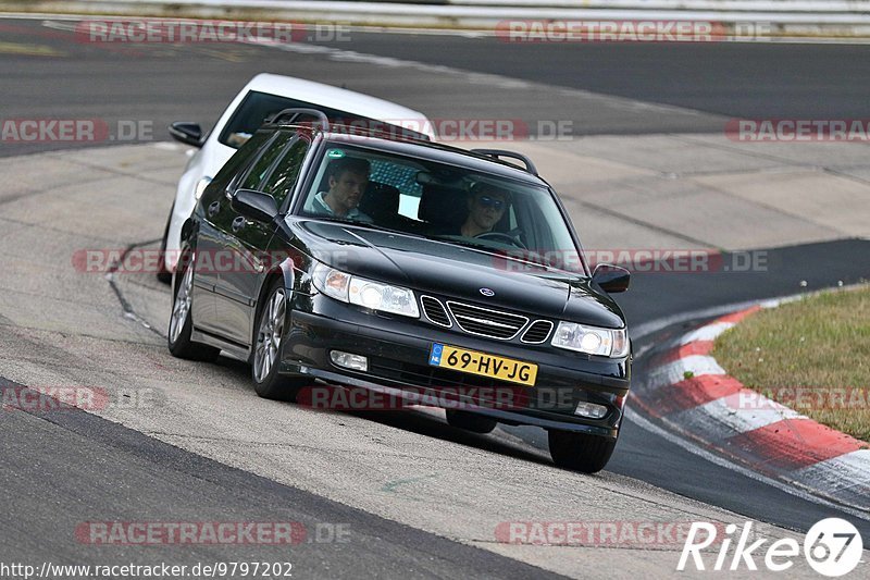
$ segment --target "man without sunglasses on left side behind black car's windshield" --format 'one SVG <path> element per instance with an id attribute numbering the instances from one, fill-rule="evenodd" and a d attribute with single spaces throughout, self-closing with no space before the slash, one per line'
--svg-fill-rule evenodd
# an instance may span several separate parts
<path id="1" fill-rule="evenodd" d="M 358 157 L 343 157 L 331 161 L 326 168 L 330 190 L 314 196 L 312 211 L 372 223 L 374 220 L 359 209 L 360 200 L 369 186 L 370 170 L 369 161 Z"/>

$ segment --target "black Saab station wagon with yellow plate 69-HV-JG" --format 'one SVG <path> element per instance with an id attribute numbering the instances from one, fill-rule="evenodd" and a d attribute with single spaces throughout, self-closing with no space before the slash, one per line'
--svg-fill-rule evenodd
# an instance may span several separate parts
<path id="1" fill-rule="evenodd" d="M 609 294 L 629 272 L 589 271 L 522 155 L 282 111 L 206 188 L 182 247 L 174 356 L 247 360 L 268 398 L 333 385 L 428 395 L 478 433 L 537 425 L 580 471 L 613 452 L 631 344 Z"/>

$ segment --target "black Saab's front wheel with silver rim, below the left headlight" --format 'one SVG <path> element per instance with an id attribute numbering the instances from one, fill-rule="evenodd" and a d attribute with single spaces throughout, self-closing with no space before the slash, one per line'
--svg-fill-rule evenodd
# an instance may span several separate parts
<path id="1" fill-rule="evenodd" d="M 258 310 L 250 359 L 253 390 L 263 398 L 295 402 L 303 379 L 294 380 L 278 373 L 289 320 L 289 300 L 282 279 L 269 285 Z"/>

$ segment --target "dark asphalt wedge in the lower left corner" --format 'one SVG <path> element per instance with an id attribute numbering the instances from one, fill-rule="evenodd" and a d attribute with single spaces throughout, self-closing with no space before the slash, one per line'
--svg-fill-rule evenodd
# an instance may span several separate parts
<path id="1" fill-rule="evenodd" d="M 0 386 L 18 385 L 0 379 Z M 162 550 L 163 562 L 188 566 L 289 562 L 296 567 L 295 576 L 306 578 L 351 578 L 361 570 L 388 578 L 559 578 L 202 458 L 84 411 L 2 412 L 0 431 L 5 442 L 0 472 L 3 490 L 32 490 L 36 496 L 33 502 L 15 502 L 3 515 L 0 562 L 83 562 L 71 550 L 69 532 L 57 530 L 94 521 L 98 503 L 102 514 L 111 513 L 120 521 L 144 517 L 179 521 L 187 514 L 198 520 L 208 505 L 213 521 L 293 521 L 303 525 L 307 534 L 291 546 Z M 47 448 L 63 453 L 41 457 Z M 60 498 L 62 506 L 55 503 Z M 323 521 L 340 528 L 318 532 L 318 522 Z M 325 542 L 337 538 L 334 534 L 340 529 L 352 531 L 352 550 L 345 543 Z M 94 558 L 87 562 L 130 562 L 128 551 L 116 546 L 89 545 L 87 552 Z"/>

